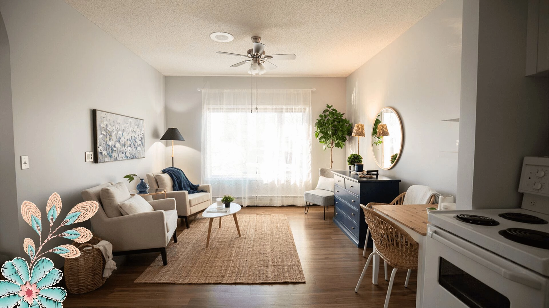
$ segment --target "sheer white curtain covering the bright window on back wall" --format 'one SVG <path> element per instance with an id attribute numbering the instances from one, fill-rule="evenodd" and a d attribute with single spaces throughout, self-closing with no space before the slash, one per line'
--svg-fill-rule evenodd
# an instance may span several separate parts
<path id="1" fill-rule="evenodd" d="M 302 205 L 311 90 L 202 90 L 202 178 L 243 206 Z"/>

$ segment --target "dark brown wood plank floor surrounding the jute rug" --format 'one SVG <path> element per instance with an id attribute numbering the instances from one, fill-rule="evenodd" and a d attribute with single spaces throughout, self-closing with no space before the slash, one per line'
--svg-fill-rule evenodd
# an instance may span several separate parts
<path id="1" fill-rule="evenodd" d="M 369 266 L 358 293 L 354 292 L 366 258 L 362 257 L 362 249 L 356 248 L 332 222 L 333 207 L 327 211 L 325 221 L 322 220 L 322 207 L 318 206 L 311 207 L 307 215 L 302 207 L 245 207 L 238 214 L 257 213 L 288 216 L 306 283 L 133 283 L 159 255 L 148 253 L 115 257 L 118 269 L 103 287 L 86 294 L 68 294 L 63 304 L 65 307 L 82 308 L 383 307 L 388 287 L 388 282 L 383 279 L 383 265 L 379 270 L 378 286 L 372 284 L 372 266 Z M 179 239 L 184 238 L 184 230 L 184 226 L 178 227 Z M 170 255 L 167 258 L 170 262 Z M 391 270 L 389 266 L 389 275 Z M 413 271 L 408 288 L 405 288 L 406 271 L 397 271 L 389 307 L 415 306 L 416 277 L 417 272 Z"/>

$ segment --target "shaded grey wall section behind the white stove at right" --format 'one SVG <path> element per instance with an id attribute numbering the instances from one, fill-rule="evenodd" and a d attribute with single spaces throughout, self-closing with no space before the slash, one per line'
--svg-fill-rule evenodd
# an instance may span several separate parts
<path id="1" fill-rule="evenodd" d="M 528 1 L 464 0 L 460 209 L 520 207 L 524 156 L 548 155 L 548 78 L 525 77 L 527 18 Z"/>

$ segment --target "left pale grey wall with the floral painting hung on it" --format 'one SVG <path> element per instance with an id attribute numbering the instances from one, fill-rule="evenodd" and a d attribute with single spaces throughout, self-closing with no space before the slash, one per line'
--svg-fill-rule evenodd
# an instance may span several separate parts
<path id="1" fill-rule="evenodd" d="M 61 0 L 3 0 L 1 12 L 11 51 L 15 157 L 29 155 L 30 165 L 16 169 L 18 200 L 10 206 L 29 200 L 44 214 L 58 192 L 64 216 L 82 202 L 81 190 L 164 166 L 163 75 Z M 85 162 L 84 152 L 93 150 L 92 109 L 144 119 L 147 157 Z M 19 226 L 19 245 L 24 237 L 37 242 L 23 219 Z"/>

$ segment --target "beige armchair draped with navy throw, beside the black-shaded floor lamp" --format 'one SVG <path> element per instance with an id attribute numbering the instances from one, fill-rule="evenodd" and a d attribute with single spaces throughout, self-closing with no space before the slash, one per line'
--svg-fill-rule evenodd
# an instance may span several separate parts
<path id="1" fill-rule="evenodd" d="M 164 176 L 164 179 L 158 181 L 159 176 Z M 185 220 L 185 226 L 189 228 L 189 217 L 204 212 L 211 205 L 211 185 L 203 184 L 198 186 L 198 190 L 206 192 L 197 192 L 189 195 L 186 190 L 173 191 L 173 182 L 169 175 L 165 173 L 148 173 L 147 182 L 150 188 L 166 189 L 166 197 L 174 198 L 177 208 L 177 217 Z"/>

